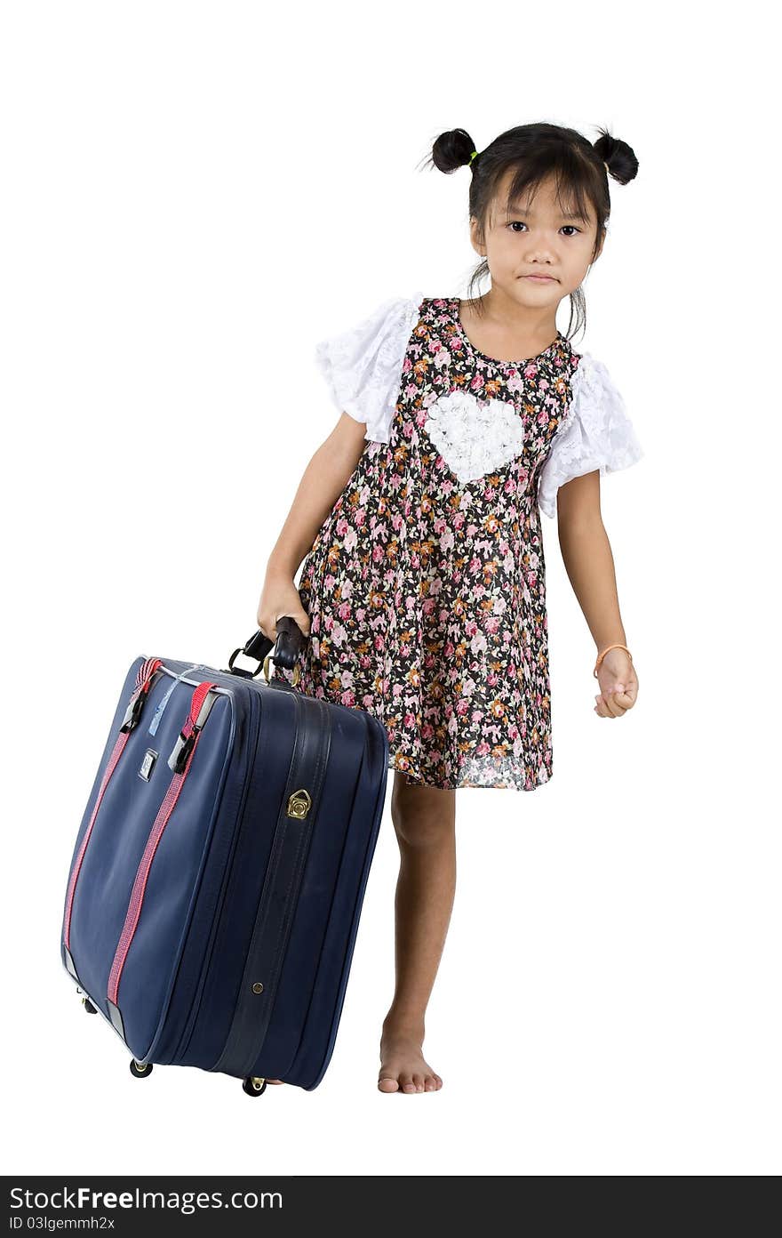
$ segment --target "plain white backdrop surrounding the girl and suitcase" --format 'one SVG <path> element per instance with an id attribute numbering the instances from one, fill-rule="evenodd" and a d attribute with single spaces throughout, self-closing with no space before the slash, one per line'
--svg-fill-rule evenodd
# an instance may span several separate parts
<path id="1" fill-rule="evenodd" d="M 780 1171 L 776 67 L 761 9 L 9 4 L 0 30 L 6 1172 Z M 134 1080 L 59 961 L 75 833 L 139 655 L 219 667 L 338 412 L 318 339 L 465 295 L 469 175 L 533 120 L 626 140 L 586 334 L 645 458 L 603 482 L 636 708 L 544 519 L 554 776 L 462 789 L 427 1016 L 376 1088 L 386 815 L 312 1093 Z M 776 269 L 775 269 L 776 267 Z M 563 303 L 558 326 L 568 326 Z M 389 782 L 389 790 L 391 784 Z"/>

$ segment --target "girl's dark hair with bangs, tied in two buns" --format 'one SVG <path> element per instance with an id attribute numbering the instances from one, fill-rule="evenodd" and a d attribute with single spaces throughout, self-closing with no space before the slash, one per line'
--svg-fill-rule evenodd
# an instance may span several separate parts
<path id="1" fill-rule="evenodd" d="M 606 129 L 600 129 L 600 137 L 594 145 L 579 134 L 577 129 L 562 125 L 537 123 L 516 125 L 486 146 L 485 150 L 470 156 L 478 150 L 465 129 L 449 129 L 440 134 L 432 147 L 429 165 L 440 172 L 455 172 L 458 167 L 469 165 L 473 172 L 470 181 L 469 214 L 478 219 L 483 233 L 486 225 L 489 208 L 494 201 L 497 186 L 509 171 L 513 170 L 507 194 L 507 206 L 517 201 L 526 191 L 535 194 L 542 181 L 554 177 L 557 196 L 564 204 L 577 209 L 584 218 L 586 202 L 591 203 L 598 217 L 598 230 L 593 249 L 593 261 L 598 253 L 600 239 L 605 233 L 606 220 L 611 210 L 609 181 L 605 165 L 615 181 L 627 184 L 638 171 L 635 151 L 627 142 L 611 137 Z M 489 274 L 489 264 L 484 259 L 473 271 L 468 292 L 470 297 L 484 275 Z M 483 303 L 476 301 L 478 313 Z M 573 316 L 575 311 L 575 328 Z M 570 293 L 570 321 L 567 338 L 570 339 L 586 326 L 586 301 L 583 288 Z"/>

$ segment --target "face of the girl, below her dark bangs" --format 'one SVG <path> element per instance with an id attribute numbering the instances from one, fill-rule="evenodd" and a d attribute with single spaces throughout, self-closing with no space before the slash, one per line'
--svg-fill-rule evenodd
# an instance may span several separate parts
<path id="1" fill-rule="evenodd" d="M 517 305 L 544 310 L 574 292 L 593 261 L 598 230 L 594 207 L 588 206 L 588 219 L 563 214 L 568 210 L 557 202 L 553 180 L 538 186 L 532 202 L 517 202 L 511 212 L 505 202 L 512 172 L 500 183 L 489 215 L 484 240 L 478 239 L 478 220 L 470 219 L 473 249 L 486 259 L 492 290 L 497 288 Z M 530 208 L 530 209 L 527 209 Z M 603 251 L 603 240 L 595 261 Z M 546 275 L 546 280 L 530 279 Z"/>

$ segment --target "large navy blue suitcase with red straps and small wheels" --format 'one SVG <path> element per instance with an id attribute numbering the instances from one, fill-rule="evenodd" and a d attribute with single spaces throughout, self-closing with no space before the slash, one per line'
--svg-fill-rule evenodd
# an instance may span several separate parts
<path id="1" fill-rule="evenodd" d="M 290 617 L 282 636 L 301 633 Z M 303 639 L 303 638 L 302 638 Z M 342 1015 L 389 766 L 382 724 L 236 667 L 139 657 L 78 832 L 61 954 L 130 1068 L 311 1091 Z M 291 649 L 287 665 L 293 666 Z"/>

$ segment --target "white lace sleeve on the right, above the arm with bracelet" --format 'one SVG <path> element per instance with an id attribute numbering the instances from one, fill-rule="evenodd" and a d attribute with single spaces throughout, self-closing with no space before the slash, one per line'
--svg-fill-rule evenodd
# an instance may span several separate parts
<path id="1" fill-rule="evenodd" d="M 583 353 L 570 379 L 570 407 L 552 441 L 541 469 L 538 505 L 547 516 L 557 511 L 557 490 L 574 477 L 600 469 L 600 475 L 635 464 L 643 456 L 625 401 L 603 361 Z"/>

